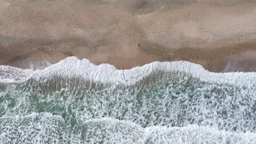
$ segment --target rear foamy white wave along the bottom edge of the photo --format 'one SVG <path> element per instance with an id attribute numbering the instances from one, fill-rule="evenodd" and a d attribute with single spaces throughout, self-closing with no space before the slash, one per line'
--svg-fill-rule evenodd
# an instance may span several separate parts
<path id="1" fill-rule="evenodd" d="M 255 143 L 255 133 L 211 127 L 147 127 L 114 118 L 92 119 L 69 129 L 60 116 L 32 113 L 0 118 L 0 140 L 26 143 Z"/>

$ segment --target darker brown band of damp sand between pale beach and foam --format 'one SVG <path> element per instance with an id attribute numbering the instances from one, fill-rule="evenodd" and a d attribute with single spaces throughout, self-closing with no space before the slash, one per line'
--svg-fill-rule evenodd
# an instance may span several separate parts
<path id="1" fill-rule="evenodd" d="M 75 56 L 79 59 L 89 59 L 96 65 L 109 63 L 117 69 L 131 69 L 154 61 L 188 61 L 200 64 L 206 70 L 221 73 L 230 57 L 231 59 L 236 57 L 256 58 L 256 39 L 229 40 L 222 41 L 222 43 L 221 41 L 205 42 L 205 44 L 199 43 L 194 47 L 177 49 L 152 44 L 147 41 L 138 41 L 135 46 L 120 47 L 119 49 L 108 44 L 102 44 L 101 46 L 83 45 L 83 40 L 78 41 L 76 39 L 66 42 L 65 40 L 55 41 L 54 43 L 50 41 L 44 41 L 44 43 L 36 42 L 25 41 L 24 43 L 10 46 L 9 49 L 14 50 L 10 51 L 10 53 L 14 55 L 6 55 L 7 57 L 0 58 L 0 65 L 15 66 L 25 59 L 33 58 L 43 58 L 54 64 L 66 57 Z M 203 45 L 207 47 L 202 48 Z M 19 49 L 24 50 L 22 55 L 15 56 L 15 50 Z"/>

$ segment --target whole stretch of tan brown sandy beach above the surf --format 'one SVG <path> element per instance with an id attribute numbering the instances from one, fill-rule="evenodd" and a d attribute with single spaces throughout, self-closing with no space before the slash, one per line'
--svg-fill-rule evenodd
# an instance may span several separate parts
<path id="1" fill-rule="evenodd" d="M 118 69 L 190 61 L 222 71 L 247 51 L 256 51 L 255 1 L 0 0 L 0 65 L 77 56 Z"/>

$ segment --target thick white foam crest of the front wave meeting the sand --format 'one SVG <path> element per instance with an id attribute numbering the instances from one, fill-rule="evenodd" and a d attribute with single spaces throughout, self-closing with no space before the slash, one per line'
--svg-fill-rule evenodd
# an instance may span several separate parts
<path id="1" fill-rule="evenodd" d="M 102 83 L 120 83 L 132 85 L 155 71 L 179 71 L 191 74 L 206 82 L 229 83 L 236 86 L 253 87 L 256 73 L 211 73 L 201 65 L 190 62 L 153 62 L 129 70 L 117 70 L 113 65 L 94 65 L 88 59 L 79 60 L 68 57 L 44 70 L 22 70 L 9 66 L 0 66 L 0 82 L 21 82 L 29 78 L 40 80 L 53 75 L 79 77 Z"/>

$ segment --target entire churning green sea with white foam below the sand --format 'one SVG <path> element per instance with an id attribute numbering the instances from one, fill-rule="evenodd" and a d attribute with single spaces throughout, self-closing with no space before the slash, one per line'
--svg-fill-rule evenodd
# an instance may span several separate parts
<path id="1" fill-rule="evenodd" d="M 189 62 L 130 70 L 69 57 L 0 66 L 2 143 L 256 143 L 256 73 Z"/>

